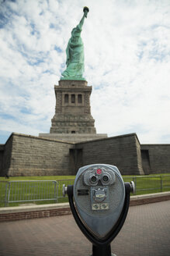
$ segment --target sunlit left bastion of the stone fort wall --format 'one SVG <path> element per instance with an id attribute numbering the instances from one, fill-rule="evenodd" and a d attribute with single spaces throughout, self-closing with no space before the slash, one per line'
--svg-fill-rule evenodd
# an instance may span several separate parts
<path id="1" fill-rule="evenodd" d="M 12 146 L 11 149 L 9 145 Z M 3 173 L 8 172 L 9 176 L 71 175 L 71 145 L 57 140 L 12 133 L 5 144 Z M 7 151 L 9 154 L 6 154 Z"/>

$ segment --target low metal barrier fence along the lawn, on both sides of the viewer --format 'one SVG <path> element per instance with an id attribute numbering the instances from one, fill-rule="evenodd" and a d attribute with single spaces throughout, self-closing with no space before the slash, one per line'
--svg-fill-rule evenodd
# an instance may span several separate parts
<path id="1" fill-rule="evenodd" d="M 149 194 L 170 190 L 170 175 L 123 176 L 124 182 L 134 180 L 135 194 Z M 48 204 L 67 202 L 62 186 L 74 184 L 72 180 L 23 180 L 0 181 L 0 206 L 14 206 L 26 203 Z"/>

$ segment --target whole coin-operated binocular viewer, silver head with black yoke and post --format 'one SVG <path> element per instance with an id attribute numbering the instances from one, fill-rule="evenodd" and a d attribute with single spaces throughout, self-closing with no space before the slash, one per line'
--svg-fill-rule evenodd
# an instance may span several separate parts
<path id="1" fill-rule="evenodd" d="M 83 166 L 74 186 L 63 185 L 75 222 L 92 242 L 92 256 L 114 255 L 110 243 L 123 226 L 134 190 L 134 182 L 124 183 L 116 166 L 104 164 Z"/>

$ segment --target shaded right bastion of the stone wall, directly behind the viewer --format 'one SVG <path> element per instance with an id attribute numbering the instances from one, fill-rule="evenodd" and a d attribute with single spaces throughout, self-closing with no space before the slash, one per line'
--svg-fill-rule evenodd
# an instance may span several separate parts
<path id="1" fill-rule="evenodd" d="M 139 148 L 140 144 L 135 133 L 79 143 L 75 148 L 82 149 L 82 161 L 78 157 L 77 161 L 82 162 L 83 165 L 95 163 L 116 165 L 122 175 L 144 174 L 137 144 Z"/>

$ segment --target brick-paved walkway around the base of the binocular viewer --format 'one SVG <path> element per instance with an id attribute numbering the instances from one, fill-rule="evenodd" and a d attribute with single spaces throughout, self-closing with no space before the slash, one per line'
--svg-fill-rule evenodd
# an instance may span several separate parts
<path id="1" fill-rule="evenodd" d="M 112 242 L 123 255 L 170 255 L 170 201 L 130 207 L 126 222 Z M 92 244 L 72 215 L 0 223 L 0 255 L 88 256 Z"/>

